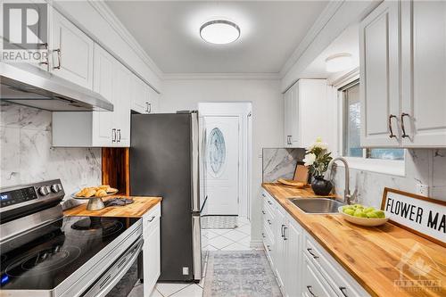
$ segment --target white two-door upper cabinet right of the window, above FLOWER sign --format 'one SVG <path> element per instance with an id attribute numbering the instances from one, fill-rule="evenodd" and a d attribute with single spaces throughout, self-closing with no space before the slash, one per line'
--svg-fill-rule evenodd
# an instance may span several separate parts
<path id="1" fill-rule="evenodd" d="M 446 146 L 446 3 L 384 1 L 359 50 L 361 144 Z"/>

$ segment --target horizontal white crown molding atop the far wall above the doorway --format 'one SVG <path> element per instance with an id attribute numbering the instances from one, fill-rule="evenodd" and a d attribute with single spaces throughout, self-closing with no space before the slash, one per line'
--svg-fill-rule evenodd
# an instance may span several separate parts
<path id="1" fill-rule="evenodd" d="M 162 79 L 280 79 L 280 76 L 279 73 L 164 73 Z"/>

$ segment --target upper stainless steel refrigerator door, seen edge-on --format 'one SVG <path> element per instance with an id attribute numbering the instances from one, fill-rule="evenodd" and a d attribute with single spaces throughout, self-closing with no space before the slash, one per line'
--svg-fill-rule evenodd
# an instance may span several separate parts
<path id="1" fill-rule="evenodd" d="M 192 211 L 200 211 L 198 113 L 191 113 Z"/>

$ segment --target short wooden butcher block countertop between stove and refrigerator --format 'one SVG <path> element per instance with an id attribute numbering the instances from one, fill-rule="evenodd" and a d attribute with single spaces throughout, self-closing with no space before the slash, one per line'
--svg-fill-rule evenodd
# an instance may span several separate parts
<path id="1" fill-rule="evenodd" d="M 103 198 L 103 201 L 114 198 L 110 196 Z M 124 196 L 118 196 L 124 197 Z M 87 210 L 87 203 L 73 207 L 70 210 L 63 211 L 63 214 L 68 217 L 112 217 L 112 218 L 141 218 L 148 210 L 151 210 L 156 204 L 161 202 L 161 197 L 136 197 L 125 196 L 132 198 L 133 203 L 125 206 L 109 206 L 102 210 Z"/>

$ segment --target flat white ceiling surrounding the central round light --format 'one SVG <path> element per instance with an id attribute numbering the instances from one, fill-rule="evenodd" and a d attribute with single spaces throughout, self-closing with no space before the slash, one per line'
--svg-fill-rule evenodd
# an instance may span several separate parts
<path id="1" fill-rule="evenodd" d="M 164 73 L 277 73 L 326 1 L 110 1 L 111 11 Z M 225 18 L 241 37 L 211 45 L 202 23 Z"/>

